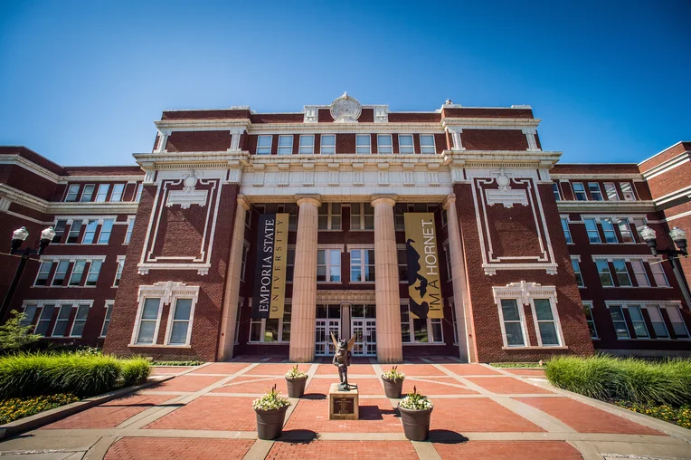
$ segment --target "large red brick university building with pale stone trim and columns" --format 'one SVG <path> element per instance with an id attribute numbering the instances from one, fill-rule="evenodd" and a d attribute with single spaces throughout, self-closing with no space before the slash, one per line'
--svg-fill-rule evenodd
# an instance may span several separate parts
<path id="1" fill-rule="evenodd" d="M 561 164 L 539 122 L 527 106 L 394 112 L 344 95 L 298 113 L 164 111 L 138 166 L 0 148 L 7 239 L 57 232 L 11 309 L 43 340 L 170 359 L 310 360 L 330 332 L 381 361 L 688 355 L 687 280 L 639 229 L 664 249 L 671 226 L 691 228 L 691 143 L 638 165 Z M 253 319 L 273 213 L 289 216 L 283 313 Z M 433 219 L 434 317 L 409 300 L 412 213 Z M 3 261 L 4 297 L 18 258 Z"/>

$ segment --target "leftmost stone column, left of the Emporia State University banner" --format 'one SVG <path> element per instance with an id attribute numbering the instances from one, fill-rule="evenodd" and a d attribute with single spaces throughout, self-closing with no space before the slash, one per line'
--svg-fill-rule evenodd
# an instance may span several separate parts
<path id="1" fill-rule="evenodd" d="M 238 317 L 238 302 L 240 300 L 240 270 L 242 264 L 242 246 L 245 241 L 245 211 L 250 204 L 244 196 L 238 196 L 238 206 L 235 209 L 235 224 L 232 227 L 231 255 L 228 257 L 228 271 L 226 273 L 225 292 L 223 292 L 223 308 L 221 314 L 221 337 L 218 341 L 218 359 L 227 361 L 232 359 L 232 346 L 235 343 L 235 321 Z"/>

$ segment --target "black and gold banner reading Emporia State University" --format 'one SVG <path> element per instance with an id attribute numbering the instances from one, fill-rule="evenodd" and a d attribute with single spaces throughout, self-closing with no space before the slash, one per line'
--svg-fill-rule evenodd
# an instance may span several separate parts
<path id="1" fill-rule="evenodd" d="M 252 319 L 283 318 L 288 259 L 288 214 L 262 214 L 257 229 Z"/>

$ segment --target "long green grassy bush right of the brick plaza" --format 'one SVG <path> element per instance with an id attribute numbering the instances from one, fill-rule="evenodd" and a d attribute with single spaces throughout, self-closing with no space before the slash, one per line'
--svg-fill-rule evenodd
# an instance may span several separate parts
<path id="1" fill-rule="evenodd" d="M 682 406 L 691 401 L 691 360 L 558 357 L 545 369 L 557 388 L 590 398 Z"/>

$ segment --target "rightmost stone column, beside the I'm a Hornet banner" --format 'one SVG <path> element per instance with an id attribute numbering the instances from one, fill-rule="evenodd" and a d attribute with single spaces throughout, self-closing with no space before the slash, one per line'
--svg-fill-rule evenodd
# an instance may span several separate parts
<path id="1" fill-rule="evenodd" d="M 449 224 L 449 256 L 451 259 L 451 283 L 453 284 L 453 308 L 456 311 L 456 324 L 459 336 L 460 359 L 468 362 L 477 361 L 475 348 L 469 339 L 472 331 L 470 314 L 470 293 L 466 273 L 465 256 L 460 242 L 459 216 L 456 212 L 456 196 L 451 194 L 443 204 Z"/>

